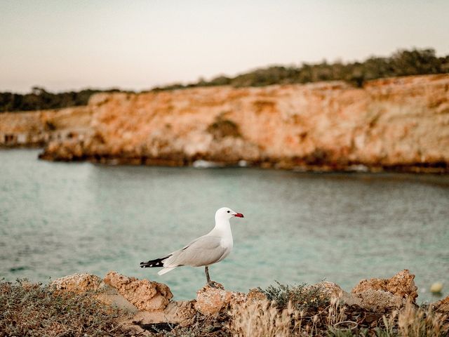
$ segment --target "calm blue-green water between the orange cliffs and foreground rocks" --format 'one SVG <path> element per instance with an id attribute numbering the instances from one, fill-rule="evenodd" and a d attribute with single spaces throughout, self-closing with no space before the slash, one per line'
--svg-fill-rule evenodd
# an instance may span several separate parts
<path id="1" fill-rule="evenodd" d="M 234 250 L 210 267 L 227 289 L 336 282 L 410 269 L 420 301 L 449 291 L 449 176 L 311 174 L 52 163 L 37 150 L 0 151 L 0 277 L 47 282 L 109 270 L 194 298 L 203 268 L 162 277 L 142 260 L 182 247 L 229 206 Z"/>

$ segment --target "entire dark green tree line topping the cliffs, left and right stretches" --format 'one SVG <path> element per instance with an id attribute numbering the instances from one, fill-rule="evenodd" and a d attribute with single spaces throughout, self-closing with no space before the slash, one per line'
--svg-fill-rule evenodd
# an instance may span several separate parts
<path id="1" fill-rule="evenodd" d="M 316 81 L 347 81 L 361 87 L 366 81 L 384 77 L 449 73 L 449 55 L 436 56 L 434 49 L 400 50 L 382 58 L 372 56 L 363 62 L 340 61 L 328 63 L 302 63 L 300 66 L 276 65 L 239 74 L 236 77 L 220 75 L 206 81 L 199 79 L 190 84 L 171 84 L 152 88 L 151 91 L 167 91 L 207 86 L 270 86 L 273 84 L 305 84 Z M 0 93 L 0 112 L 58 109 L 87 105 L 89 98 L 99 92 L 120 92 L 119 89 L 84 89 L 64 93 L 51 93 L 45 88 L 34 87 L 31 93 Z M 129 92 L 129 91 L 127 91 Z"/>

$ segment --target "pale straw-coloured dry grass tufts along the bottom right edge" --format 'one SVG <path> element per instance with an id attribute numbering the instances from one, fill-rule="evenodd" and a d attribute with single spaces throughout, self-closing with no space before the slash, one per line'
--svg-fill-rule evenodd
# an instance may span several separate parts
<path id="1" fill-rule="evenodd" d="M 333 299 L 324 310 L 307 316 L 291 303 L 279 309 L 274 302 L 253 302 L 232 308 L 229 333 L 237 337 L 328 336 L 328 337 L 442 337 L 449 336 L 449 317 L 413 304 L 383 315 L 375 326 L 348 319 L 347 306 Z M 326 313 L 325 315 L 322 315 Z M 349 316 L 348 316 L 349 315 Z"/>

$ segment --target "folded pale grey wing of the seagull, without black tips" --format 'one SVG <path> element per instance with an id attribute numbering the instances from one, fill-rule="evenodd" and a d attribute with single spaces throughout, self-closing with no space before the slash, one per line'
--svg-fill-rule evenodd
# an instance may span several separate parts
<path id="1" fill-rule="evenodd" d="M 228 250 L 221 246 L 221 239 L 221 237 L 208 235 L 199 237 L 183 249 L 174 251 L 172 256 L 163 261 L 163 266 L 192 265 L 193 267 L 200 267 L 218 262 Z"/>

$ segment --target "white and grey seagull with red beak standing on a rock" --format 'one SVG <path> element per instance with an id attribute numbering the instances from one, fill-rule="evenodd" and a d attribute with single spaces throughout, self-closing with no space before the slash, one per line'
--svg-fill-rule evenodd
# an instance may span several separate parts
<path id="1" fill-rule="evenodd" d="M 232 232 L 231 224 L 229 223 L 231 218 L 243 218 L 243 214 L 234 212 L 227 207 L 218 209 L 215 212 L 215 227 L 208 234 L 194 239 L 187 246 L 173 251 L 173 253 L 163 258 L 141 262 L 140 267 L 163 267 L 158 272 L 159 275 L 163 275 L 182 265 L 190 265 L 192 267 L 204 266 L 207 284 L 213 286 L 215 282 L 210 281 L 209 265 L 220 262 L 232 251 Z"/>

